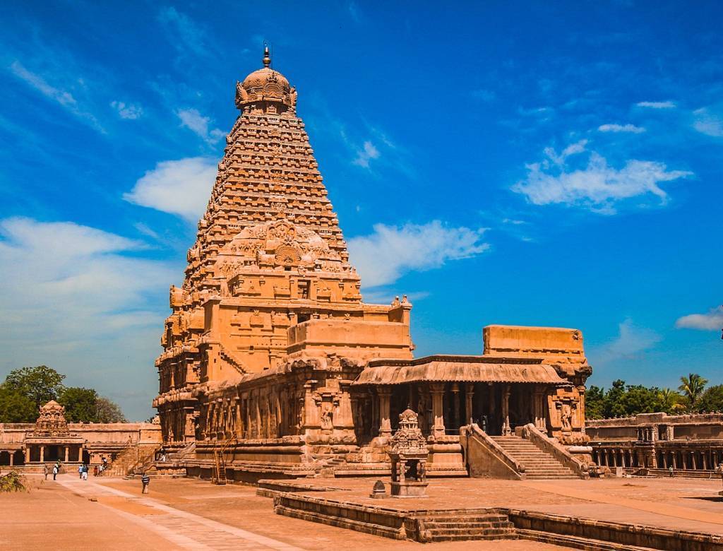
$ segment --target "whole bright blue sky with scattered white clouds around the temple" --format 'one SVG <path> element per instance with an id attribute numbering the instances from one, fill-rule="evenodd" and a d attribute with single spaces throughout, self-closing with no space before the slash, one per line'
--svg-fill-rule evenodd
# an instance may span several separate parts
<path id="1" fill-rule="evenodd" d="M 411 297 L 416 354 L 554 325 L 590 383 L 723 383 L 719 3 L 4 10 L 0 376 L 48 364 L 151 414 L 168 285 L 269 40 L 364 296 Z"/>

